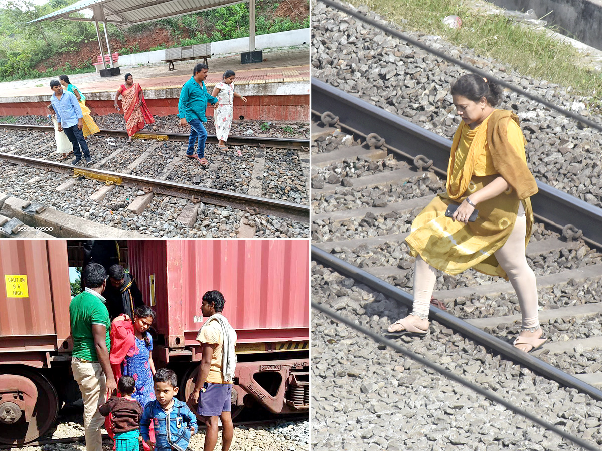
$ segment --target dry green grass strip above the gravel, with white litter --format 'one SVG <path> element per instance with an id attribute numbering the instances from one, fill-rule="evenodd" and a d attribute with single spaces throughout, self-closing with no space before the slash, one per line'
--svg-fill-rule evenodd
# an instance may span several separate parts
<path id="1" fill-rule="evenodd" d="M 545 31 L 523 26 L 502 14 L 486 14 L 461 0 L 351 0 L 403 29 L 436 34 L 479 55 L 494 58 L 510 69 L 536 79 L 544 79 L 592 96 L 601 106 L 602 74 L 584 66 L 582 56 L 570 44 L 549 37 Z M 462 19 L 460 29 L 441 22 L 450 14 Z"/>

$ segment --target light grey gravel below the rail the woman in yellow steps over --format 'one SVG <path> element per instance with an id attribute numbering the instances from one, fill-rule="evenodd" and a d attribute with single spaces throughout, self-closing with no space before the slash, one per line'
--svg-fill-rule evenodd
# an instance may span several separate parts
<path id="1" fill-rule="evenodd" d="M 315 262 L 312 300 L 372 330 L 407 311 Z M 491 355 L 436 322 L 423 339 L 404 337 L 400 344 L 570 434 L 602 444 L 602 402 Z M 576 361 L 600 357 L 597 350 L 550 360 L 579 369 Z M 315 311 L 311 377 L 312 451 L 580 449 Z"/>

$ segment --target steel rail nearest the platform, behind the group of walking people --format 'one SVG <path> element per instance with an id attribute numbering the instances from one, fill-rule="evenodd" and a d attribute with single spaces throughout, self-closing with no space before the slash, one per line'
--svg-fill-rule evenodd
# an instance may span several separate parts
<path id="1" fill-rule="evenodd" d="M 36 130 L 41 132 L 54 132 L 54 126 L 49 125 L 20 125 L 20 124 L 2 124 L 0 123 L 0 129 L 6 130 L 17 130 L 17 131 L 27 131 L 27 130 Z M 128 132 L 125 130 L 101 130 L 99 132 L 101 135 L 108 137 L 117 137 L 117 138 L 127 138 Z M 149 139 L 149 140 L 160 140 L 161 137 L 167 136 L 167 141 L 176 141 L 181 143 L 188 143 L 188 137 L 190 136 L 188 133 L 172 133 L 172 132 L 153 132 L 146 133 L 144 131 L 138 133 L 140 135 L 144 135 L 147 138 L 140 139 Z M 135 135 L 134 135 L 135 137 Z M 208 135 L 207 143 L 217 144 L 219 140 L 217 140 L 216 135 Z M 303 140 L 299 138 L 271 138 L 271 137 L 236 137 L 230 136 L 228 137 L 228 144 L 231 146 L 265 146 L 265 147 L 276 147 L 278 149 L 292 149 L 292 150 L 301 150 L 303 147 L 309 148 L 309 140 Z"/>

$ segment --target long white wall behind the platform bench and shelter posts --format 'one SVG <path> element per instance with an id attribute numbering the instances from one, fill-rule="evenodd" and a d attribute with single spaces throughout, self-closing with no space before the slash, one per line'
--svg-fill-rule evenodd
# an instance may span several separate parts
<path id="1" fill-rule="evenodd" d="M 309 43 L 309 28 L 281 31 L 255 36 L 256 50 L 276 47 L 290 47 Z M 249 38 L 228 39 L 211 43 L 211 53 L 215 56 L 231 55 L 249 51 Z M 119 66 L 137 66 L 137 64 L 160 63 L 165 59 L 165 50 L 154 50 L 139 54 L 120 55 Z"/>

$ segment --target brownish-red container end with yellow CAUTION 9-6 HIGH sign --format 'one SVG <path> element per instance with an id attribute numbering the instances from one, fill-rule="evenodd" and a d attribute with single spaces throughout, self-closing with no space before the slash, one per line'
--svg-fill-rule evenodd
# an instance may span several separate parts
<path id="1" fill-rule="evenodd" d="M 70 351 L 69 263 L 64 240 L 0 241 L 0 362 L 42 367 L 48 352 Z"/>

